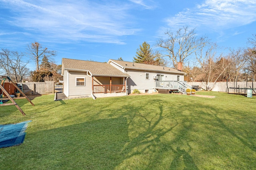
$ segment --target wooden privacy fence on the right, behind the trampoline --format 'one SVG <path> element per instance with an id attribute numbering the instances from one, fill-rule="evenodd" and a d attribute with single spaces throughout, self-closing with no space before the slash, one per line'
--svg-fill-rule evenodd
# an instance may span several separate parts
<path id="1" fill-rule="evenodd" d="M 206 82 L 187 82 L 189 85 L 198 85 L 199 87 L 202 87 L 202 89 L 206 89 Z M 212 87 L 214 83 L 209 83 L 208 86 Z M 252 88 L 252 81 L 241 81 L 241 82 L 228 82 L 228 88 L 234 87 L 234 88 Z M 253 88 L 256 88 L 256 82 L 253 82 Z M 214 85 L 212 91 L 221 91 L 221 92 L 228 92 L 227 90 L 227 82 L 216 82 Z M 234 91 L 234 90 L 233 90 Z M 230 92 L 233 92 L 230 91 Z"/>

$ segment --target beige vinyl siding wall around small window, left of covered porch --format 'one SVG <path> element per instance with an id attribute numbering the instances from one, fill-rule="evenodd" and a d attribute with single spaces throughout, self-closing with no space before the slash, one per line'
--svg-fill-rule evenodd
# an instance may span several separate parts
<path id="1" fill-rule="evenodd" d="M 85 86 L 76 86 L 76 78 L 85 77 Z M 69 81 L 69 95 L 68 96 L 78 96 L 78 95 L 91 95 L 91 77 L 86 75 L 86 72 L 79 71 L 69 71 L 68 72 Z"/>

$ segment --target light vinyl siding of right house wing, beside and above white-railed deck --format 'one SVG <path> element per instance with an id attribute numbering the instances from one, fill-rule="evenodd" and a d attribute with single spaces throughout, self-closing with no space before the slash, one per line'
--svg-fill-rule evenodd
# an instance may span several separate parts
<path id="1" fill-rule="evenodd" d="M 130 77 L 127 79 L 128 93 L 132 93 L 134 89 L 140 90 L 144 93 L 145 90 L 154 89 L 155 79 L 153 76 L 157 74 L 164 75 L 164 81 L 176 81 L 177 74 L 161 73 L 156 71 L 139 71 L 139 70 L 125 70 Z M 149 73 L 149 79 L 146 79 L 146 73 Z M 184 75 L 180 74 L 180 81 L 184 80 Z"/>

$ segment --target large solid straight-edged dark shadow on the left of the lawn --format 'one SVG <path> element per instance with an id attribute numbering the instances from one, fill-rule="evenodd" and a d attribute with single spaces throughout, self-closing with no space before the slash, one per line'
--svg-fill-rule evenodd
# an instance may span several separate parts
<path id="1" fill-rule="evenodd" d="M 37 131 L 27 134 L 22 159 L 14 151 L 2 166 L 15 160 L 25 169 L 113 169 L 123 161 L 128 140 L 126 118 Z"/>

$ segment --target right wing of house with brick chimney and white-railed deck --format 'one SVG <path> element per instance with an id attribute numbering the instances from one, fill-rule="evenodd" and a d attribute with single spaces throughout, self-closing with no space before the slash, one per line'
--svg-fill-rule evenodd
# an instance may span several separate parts
<path id="1" fill-rule="evenodd" d="M 170 67 L 114 59 L 110 59 L 108 63 L 130 75 L 127 78 L 128 93 L 132 93 L 134 89 L 138 89 L 141 93 L 152 93 L 159 91 L 159 89 L 166 91 L 166 93 L 169 93 L 170 90 L 185 93 L 186 88 L 191 88 L 184 82 L 186 73 Z M 181 64 L 178 63 L 178 68 L 182 68 Z"/>

